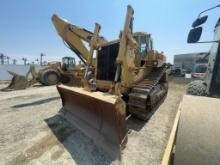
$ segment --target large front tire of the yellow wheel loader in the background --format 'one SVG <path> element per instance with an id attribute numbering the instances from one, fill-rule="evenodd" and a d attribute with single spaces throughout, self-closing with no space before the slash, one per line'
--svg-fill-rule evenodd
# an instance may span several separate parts
<path id="1" fill-rule="evenodd" d="M 60 73 L 55 69 L 44 70 L 40 75 L 40 81 L 44 85 L 56 85 L 60 81 Z"/>

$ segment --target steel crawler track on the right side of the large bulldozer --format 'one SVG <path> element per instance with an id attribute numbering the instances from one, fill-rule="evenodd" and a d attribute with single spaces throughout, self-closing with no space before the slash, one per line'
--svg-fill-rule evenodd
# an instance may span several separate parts
<path id="1" fill-rule="evenodd" d="M 167 90 L 166 66 L 153 69 L 144 80 L 131 88 L 128 111 L 141 120 L 148 120 Z"/>

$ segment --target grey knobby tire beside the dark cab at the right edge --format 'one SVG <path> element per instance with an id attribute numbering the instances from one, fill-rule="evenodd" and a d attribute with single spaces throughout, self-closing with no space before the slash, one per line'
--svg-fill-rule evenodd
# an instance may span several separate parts
<path id="1" fill-rule="evenodd" d="M 196 80 L 189 83 L 186 93 L 188 95 L 206 96 L 206 85 L 202 80 Z"/>

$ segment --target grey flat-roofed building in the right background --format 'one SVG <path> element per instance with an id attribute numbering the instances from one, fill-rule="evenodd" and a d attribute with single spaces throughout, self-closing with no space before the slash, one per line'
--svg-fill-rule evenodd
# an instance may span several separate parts
<path id="1" fill-rule="evenodd" d="M 196 64 L 208 63 L 207 52 L 174 55 L 174 69 L 192 72 Z"/>

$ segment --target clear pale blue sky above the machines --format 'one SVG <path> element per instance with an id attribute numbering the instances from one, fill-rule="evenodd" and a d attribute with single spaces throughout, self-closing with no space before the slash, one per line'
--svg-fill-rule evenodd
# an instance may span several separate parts
<path id="1" fill-rule="evenodd" d="M 41 52 L 47 61 L 75 56 L 57 35 L 52 14 L 91 31 L 98 22 L 101 35 L 113 40 L 123 28 L 128 4 L 135 11 L 134 31 L 151 33 L 154 48 L 164 51 L 168 61 L 174 54 L 208 51 L 209 44 L 187 44 L 186 39 L 198 13 L 218 0 L 1 0 L 0 52 L 20 63 L 22 57 L 34 61 Z M 209 12 L 202 39 L 212 39 L 219 9 Z"/>

